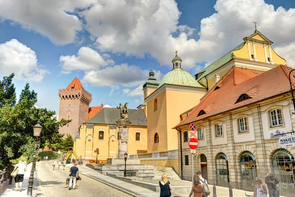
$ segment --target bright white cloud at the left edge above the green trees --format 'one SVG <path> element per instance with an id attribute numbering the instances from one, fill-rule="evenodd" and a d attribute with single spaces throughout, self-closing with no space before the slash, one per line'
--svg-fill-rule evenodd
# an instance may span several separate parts
<path id="1" fill-rule="evenodd" d="M 50 72 L 38 63 L 36 53 L 16 39 L 0 44 L 0 73 L 15 73 L 18 80 L 41 82 Z"/>

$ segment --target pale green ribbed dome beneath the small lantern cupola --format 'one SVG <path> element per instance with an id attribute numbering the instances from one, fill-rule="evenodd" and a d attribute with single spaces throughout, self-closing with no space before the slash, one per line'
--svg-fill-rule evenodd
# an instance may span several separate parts
<path id="1" fill-rule="evenodd" d="M 191 74 L 182 70 L 181 68 L 175 68 L 167 73 L 161 80 L 158 88 L 161 87 L 163 84 L 204 87 L 203 85 L 199 84 Z"/>

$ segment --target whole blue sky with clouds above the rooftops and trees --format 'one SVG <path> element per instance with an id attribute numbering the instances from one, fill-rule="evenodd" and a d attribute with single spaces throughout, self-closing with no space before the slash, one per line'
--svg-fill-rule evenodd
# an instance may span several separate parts
<path id="1" fill-rule="evenodd" d="M 59 113 L 58 89 L 77 77 L 90 106 L 143 102 L 151 63 L 160 80 L 175 50 L 196 74 L 254 31 L 295 65 L 294 0 L 0 0 L 0 77 L 16 73 L 37 106 Z M 281 7 L 282 6 L 282 7 Z"/>

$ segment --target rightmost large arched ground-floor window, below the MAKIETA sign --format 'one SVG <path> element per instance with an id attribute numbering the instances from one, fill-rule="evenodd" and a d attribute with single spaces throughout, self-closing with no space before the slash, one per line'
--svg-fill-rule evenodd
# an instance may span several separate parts
<path id="1" fill-rule="evenodd" d="M 280 192 L 295 194 L 295 161 L 292 154 L 283 148 L 275 151 L 272 168 L 275 176 L 281 179 L 278 184 Z"/>

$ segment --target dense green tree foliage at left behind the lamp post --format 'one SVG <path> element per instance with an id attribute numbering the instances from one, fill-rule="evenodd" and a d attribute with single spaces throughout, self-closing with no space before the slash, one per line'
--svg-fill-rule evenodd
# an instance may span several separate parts
<path id="1" fill-rule="evenodd" d="M 34 107 L 37 93 L 29 89 L 29 83 L 16 102 L 13 77 L 14 74 L 3 77 L 0 82 L 0 169 L 21 156 L 31 161 L 35 140 L 33 126 L 37 121 L 43 127 L 37 150 L 61 141 L 63 135 L 59 134 L 59 127 L 69 122 L 65 119 L 57 121 L 54 111 Z"/>

